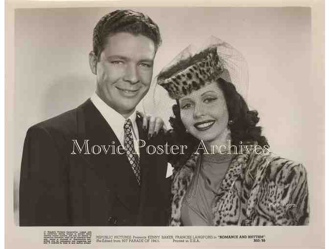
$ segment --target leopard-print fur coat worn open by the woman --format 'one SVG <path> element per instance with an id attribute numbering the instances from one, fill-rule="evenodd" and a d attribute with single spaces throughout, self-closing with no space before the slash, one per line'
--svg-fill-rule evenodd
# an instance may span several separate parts
<path id="1" fill-rule="evenodd" d="M 170 226 L 183 226 L 183 198 L 200 155 L 192 154 L 174 169 Z M 270 152 L 238 154 L 232 160 L 212 201 L 214 226 L 308 225 L 305 167 Z"/>

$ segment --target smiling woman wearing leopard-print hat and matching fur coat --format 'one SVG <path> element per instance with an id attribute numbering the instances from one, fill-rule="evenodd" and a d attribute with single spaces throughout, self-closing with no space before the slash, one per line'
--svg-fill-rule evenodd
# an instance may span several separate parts
<path id="1" fill-rule="evenodd" d="M 170 134 L 189 148 L 173 162 L 170 225 L 307 225 L 305 167 L 270 152 L 243 98 L 243 57 L 216 38 L 192 50 L 157 77 L 177 103 Z"/>

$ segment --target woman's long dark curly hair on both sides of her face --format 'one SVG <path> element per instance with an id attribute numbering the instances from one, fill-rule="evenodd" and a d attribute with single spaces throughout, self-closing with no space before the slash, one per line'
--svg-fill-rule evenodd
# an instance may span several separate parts
<path id="1" fill-rule="evenodd" d="M 261 127 L 256 126 L 259 121 L 258 111 L 249 110 L 248 105 L 243 97 L 236 91 L 233 83 L 227 82 L 222 78 L 217 78 L 216 83 L 223 91 L 229 112 L 229 120 L 232 121 L 229 124 L 232 138 L 231 144 L 241 145 L 241 141 L 243 144 L 257 142 L 260 146 L 268 145 L 266 138 L 261 134 Z M 188 159 L 191 153 L 194 152 L 200 141 L 186 132 L 186 128 L 181 120 L 178 101 L 177 104 L 172 106 L 172 111 L 174 117 L 170 117 L 169 119 L 170 125 L 173 128 L 170 132 L 171 142 L 188 146 L 187 153 L 185 153 L 183 157 L 179 159 L 173 158 L 172 161 L 174 164 L 182 164 Z M 173 141 L 174 138 L 175 142 Z"/>

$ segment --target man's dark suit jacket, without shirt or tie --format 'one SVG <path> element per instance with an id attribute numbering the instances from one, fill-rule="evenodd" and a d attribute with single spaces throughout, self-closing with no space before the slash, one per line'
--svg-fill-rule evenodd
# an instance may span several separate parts
<path id="1" fill-rule="evenodd" d="M 146 145 L 164 144 L 161 136 Z M 21 168 L 20 226 L 165 226 L 170 205 L 166 156 L 140 148 L 141 187 L 126 154 L 71 155 L 82 147 L 120 145 L 115 133 L 87 100 L 79 107 L 30 127 Z M 95 152 L 98 150 L 96 149 Z M 92 153 L 91 151 L 89 151 Z"/>

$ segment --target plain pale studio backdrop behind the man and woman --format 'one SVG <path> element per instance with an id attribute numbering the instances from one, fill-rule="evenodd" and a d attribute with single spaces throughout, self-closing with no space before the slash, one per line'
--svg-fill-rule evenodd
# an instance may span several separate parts
<path id="1" fill-rule="evenodd" d="M 154 76 L 189 43 L 203 42 L 211 35 L 229 42 L 244 55 L 249 67 L 247 102 L 258 110 L 271 150 L 305 165 L 312 205 L 319 198 L 313 193 L 313 176 L 317 168 L 323 167 L 319 163 L 323 137 L 314 124 L 323 119 L 318 116 L 322 112 L 316 111 L 321 87 L 310 79 L 310 9 L 130 8 L 149 15 L 160 27 L 163 45 L 156 56 Z M 16 224 L 26 130 L 76 107 L 93 94 L 95 79 L 88 62 L 92 32 L 100 17 L 113 10 L 52 8 L 15 12 Z M 165 105 L 160 103 L 160 96 Z M 146 97 L 139 109 L 159 113 L 168 125 L 170 106 L 164 92 L 156 89 L 155 100 Z M 317 214 L 312 215 L 315 220 Z"/>

